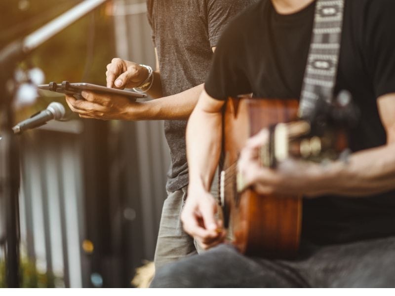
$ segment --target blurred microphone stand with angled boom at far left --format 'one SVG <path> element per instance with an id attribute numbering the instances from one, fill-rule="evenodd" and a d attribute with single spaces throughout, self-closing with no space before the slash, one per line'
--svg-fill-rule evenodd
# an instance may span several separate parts
<path id="1" fill-rule="evenodd" d="M 5 215 L 5 265 L 8 288 L 20 286 L 20 226 L 19 226 L 19 146 L 13 136 L 13 99 L 16 91 L 14 71 L 16 64 L 27 57 L 40 44 L 53 37 L 85 14 L 107 0 L 84 0 L 74 8 L 55 18 L 39 30 L 10 43 L 0 50 L 0 198 Z M 1 221 L 0 221 L 1 223 Z M 1 225 L 0 225 L 1 226 Z M 0 232 L 1 233 L 1 232 Z"/>

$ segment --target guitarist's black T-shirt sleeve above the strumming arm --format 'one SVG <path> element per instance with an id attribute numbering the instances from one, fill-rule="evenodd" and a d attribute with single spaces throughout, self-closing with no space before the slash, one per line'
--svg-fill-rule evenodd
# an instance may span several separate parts
<path id="1" fill-rule="evenodd" d="M 235 20 L 225 29 L 206 77 L 205 91 L 217 100 L 251 93 L 245 67 L 248 53 L 245 52 L 243 33 L 239 28 L 240 23 Z"/>

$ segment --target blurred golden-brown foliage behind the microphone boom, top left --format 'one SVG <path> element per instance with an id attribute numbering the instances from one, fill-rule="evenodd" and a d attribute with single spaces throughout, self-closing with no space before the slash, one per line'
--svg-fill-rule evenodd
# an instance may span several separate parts
<path id="1" fill-rule="evenodd" d="M 0 0 L 0 48 L 34 32 L 81 1 Z M 23 66 L 43 70 L 45 83 L 69 80 L 105 85 L 106 65 L 115 56 L 113 19 L 106 13 L 110 6 L 111 2 L 101 5 L 40 45 Z M 17 119 L 46 108 L 53 100 L 39 98 L 30 109 L 20 111 Z M 55 100 L 64 103 L 62 98 Z"/>

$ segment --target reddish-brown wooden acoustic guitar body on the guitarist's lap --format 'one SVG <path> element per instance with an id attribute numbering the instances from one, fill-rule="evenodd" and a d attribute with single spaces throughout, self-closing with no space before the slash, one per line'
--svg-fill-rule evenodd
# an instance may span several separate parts
<path id="1" fill-rule="evenodd" d="M 292 258 L 299 246 L 302 199 L 298 196 L 259 195 L 252 189 L 237 193 L 232 174 L 240 150 L 262 128 L 297 117 L 296 100 L 229 99 L 224 110 L 221 176 L 225 220 L 237 249 L 253 256 Z M 225 221 L 225 224 L 227 222 Z"/>

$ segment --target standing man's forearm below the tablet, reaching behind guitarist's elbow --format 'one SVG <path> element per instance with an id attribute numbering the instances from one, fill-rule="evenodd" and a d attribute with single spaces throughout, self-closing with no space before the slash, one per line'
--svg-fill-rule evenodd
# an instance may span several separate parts
<path id="1" fill-rule="evenodd" d="M 128 119 L 186 120 L 194 110 L 202 90 L 203 84 L 200 84 L 172 96 L 131 104 Z"/>

